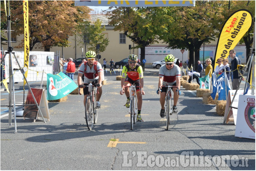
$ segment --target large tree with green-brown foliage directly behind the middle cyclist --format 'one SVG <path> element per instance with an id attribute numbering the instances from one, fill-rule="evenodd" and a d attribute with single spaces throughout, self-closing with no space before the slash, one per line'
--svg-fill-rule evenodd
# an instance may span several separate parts
<path id="1" fill-rule="evenodd" d="M 145 47 L 158 42 L 159 16 L 155 10 L 154 7 L 110 7 L 107 12 L 110 16 L 109 24 L 115 26 L 114 30 L 123 31 L 137 44 L 134 48 L 141 49 L 141 61 L 145 59 Z"/>

